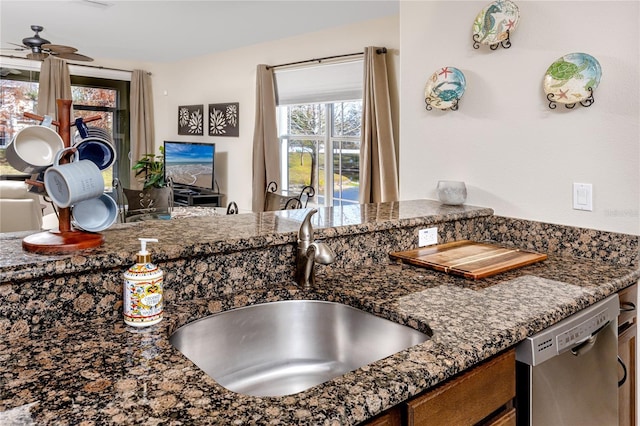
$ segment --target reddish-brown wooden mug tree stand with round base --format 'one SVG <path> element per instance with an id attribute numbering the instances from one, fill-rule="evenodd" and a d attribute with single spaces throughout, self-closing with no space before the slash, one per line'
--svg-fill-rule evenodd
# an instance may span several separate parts
<path id="1" fill-rule="evenodd" d="M 52 124 L 58 126 L 58 134 L 64 142 L 64 147 L 71 146 L 71 126 L 75 123 L 71 122 L 71 100 L 58 99 L 58 121 L 52 121 Z M 44 117 L 24 113 L 27 118 L 42 121 Z M 83 119 L 85 123 L 100 120 L 99 115 L 91 116 Z M 66 156 L 60 159 L 60 164 L 68 163 Z M 41 186 L 40 182 L 27 181 L 30 184 Z M 99 247 L 104 242 L 102 234 L 95 232 L 85 232 L 71 228 L 71 209 L 58 209 L 58 229 L 31 234 L 22 240 L 22 248 L 26 251 L 40 254 L 64 253 L 87 248 Z"/>

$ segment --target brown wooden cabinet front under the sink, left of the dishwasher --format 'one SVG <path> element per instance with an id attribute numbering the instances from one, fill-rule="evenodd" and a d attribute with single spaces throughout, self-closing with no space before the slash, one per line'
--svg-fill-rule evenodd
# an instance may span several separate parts
<path id="1" fill-rule="evenodd" d="M 515 350 L 497 355 L 365 423 L 515 426 Z"/>

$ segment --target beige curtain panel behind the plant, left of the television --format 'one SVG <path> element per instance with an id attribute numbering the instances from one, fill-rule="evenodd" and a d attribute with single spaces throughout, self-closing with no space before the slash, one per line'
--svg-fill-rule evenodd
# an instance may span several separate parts
<path id="1" fill-rule="evenodd" d="M 131 170 L 143 155 L 155 153 L 155 131 L 153 117 L 153 90 L 151 76 L 143 70 L 131 73 L 131 156 L 129 158 L 129 187 L 142 188 Z M 125 161 L 124 159 L 120 159 Z"/>

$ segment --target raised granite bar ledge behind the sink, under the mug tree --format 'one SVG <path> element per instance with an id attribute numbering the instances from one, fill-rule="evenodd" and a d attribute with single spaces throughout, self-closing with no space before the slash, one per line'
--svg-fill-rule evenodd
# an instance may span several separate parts
<path id="1" fill-rule="evenodd" d="M 0 233 L 0 283 L 80 273 L 107 264 L 126 268 L 140 248 L 139 237 L 158 238 L 159 244 L 150 245 L 150 250 L 159 262 L 294 243 L 300 223 L 310 209 L 238 215 L 221 215 L 215 208 L 204 207 L 175 210 L 175 220 L 116 224 L 102 233 L 105 242 L 101 247 L 80 252 L 29 253 L 22 250 L 22 239 L 33 232 Z M 320 207 L 312 225 L 316 237 L 326 238 L 491 214 L 493 210 L 486 207 L 444 206 L 433 200 L 411 200 Z"/>

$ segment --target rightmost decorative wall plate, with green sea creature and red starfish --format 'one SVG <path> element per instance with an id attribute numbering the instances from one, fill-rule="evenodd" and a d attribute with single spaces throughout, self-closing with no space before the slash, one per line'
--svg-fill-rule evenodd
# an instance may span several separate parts
<path id="1" fill-rule="evenodd" d="M 575 104 L 590 98 L 600 84 L 600 63 L 586 53 L 569 53 L 549 66 L 544 76 L 547 99 Z"/>

